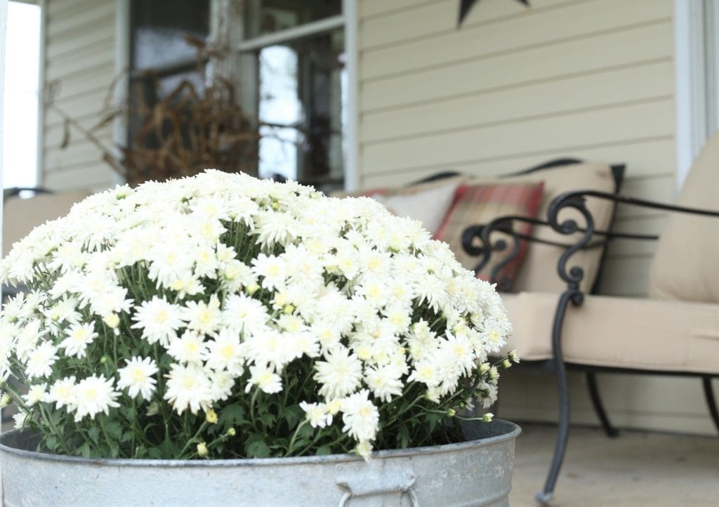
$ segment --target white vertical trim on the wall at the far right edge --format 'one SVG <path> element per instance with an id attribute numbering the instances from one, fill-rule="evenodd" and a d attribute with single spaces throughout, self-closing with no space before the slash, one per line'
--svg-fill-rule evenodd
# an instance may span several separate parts
<path id="1" fill-rule="evenodd" d="M 719 0 L 674 0 L 677 191 L 719 128 Z"/>

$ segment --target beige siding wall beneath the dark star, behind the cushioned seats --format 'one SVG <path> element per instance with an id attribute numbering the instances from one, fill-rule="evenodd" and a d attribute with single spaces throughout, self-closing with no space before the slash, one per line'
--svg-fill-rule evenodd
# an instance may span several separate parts
<path id="1" fill-rule="evenodd" d="M 623 193 L 675 188 L 672 0 L 360 0 L 358 179 L 398 185 L 440 170 L 496 175 L 556 157 L 626 163 Z M 620 230 L 659 232 L 618 209 Z M 603 293 L 646 294 L 654 246 L 612 247 Z M 572 420 L 596 424 L 582 375 Z M 616 424 L 712 434 L 699 380 L 600 375 Z M 554 381 L 514 373 L 501 415 L 556 420 Z"/>

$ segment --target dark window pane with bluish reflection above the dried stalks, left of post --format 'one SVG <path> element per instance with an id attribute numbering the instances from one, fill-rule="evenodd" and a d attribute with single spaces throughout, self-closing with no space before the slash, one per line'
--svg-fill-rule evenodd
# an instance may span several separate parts
<path id="1" fill-rule="evenodd" d="M 209 3 L 206 0 L 134 0 L 132 2 L 132 66 L 165 67 L 193 58 L 196 48 L 186 35 L 206 40 Z"/>

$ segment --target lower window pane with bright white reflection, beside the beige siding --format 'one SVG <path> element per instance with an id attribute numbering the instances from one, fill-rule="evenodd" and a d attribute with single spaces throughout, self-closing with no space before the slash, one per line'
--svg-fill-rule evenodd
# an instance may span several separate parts
<path id="1" fill-rule="evenodd" d="M 259 52 L 260 176 L 342 186 L 342 30 Z"/>

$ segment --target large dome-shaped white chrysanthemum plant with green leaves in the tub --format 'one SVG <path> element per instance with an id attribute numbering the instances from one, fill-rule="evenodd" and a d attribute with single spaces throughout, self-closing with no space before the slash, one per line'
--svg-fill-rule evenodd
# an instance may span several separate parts
<path id="1" fill-rule="evenodd" d="M 487 362 L 510 332 L 502 301 L 419 222 L 297 183 L 208 170 L 118 187 L 0 269 L 29 288 L 0 319 L 3 401 L 59 454 L 453 442 L 457 412 L 490 406 L 516 360 Z"/>

